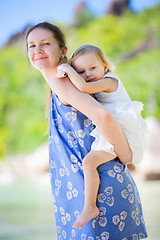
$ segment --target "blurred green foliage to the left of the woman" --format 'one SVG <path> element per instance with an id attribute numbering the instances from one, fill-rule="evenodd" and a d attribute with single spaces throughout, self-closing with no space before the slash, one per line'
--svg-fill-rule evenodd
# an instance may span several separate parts
<path id="1" fill-rule="evenodd" d="M 44 136 L 44 81 L 15 46 L 0 52 L 0 157 L 31 151 Z"/>

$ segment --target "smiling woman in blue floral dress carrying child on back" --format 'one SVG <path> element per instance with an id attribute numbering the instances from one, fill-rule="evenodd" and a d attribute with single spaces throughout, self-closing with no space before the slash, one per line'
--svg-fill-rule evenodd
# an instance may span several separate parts
<path id="1" fill-rule="evenodd" d="M 56 77 L 57 67 L 66 61 L 67 53 L 59 28 L 40 23 L 28 31 L 26 40 L 31 64 L 43 74 L 52 91 L 49 167 L 58 239 L 146 238 L 138 191 L 126 167 L 132 154 L 119 125 L 100 103 L 79 92 L 67 77 Z M 84 205 L 82 160 L 94 140 L 90 136 L 94 128 L 91 120 L 114 145 L 120 160 L 98 167 L 100 214 L 81 229 L 73 229 Z M 105 162 L 104 153 L 101 157 Z"/>

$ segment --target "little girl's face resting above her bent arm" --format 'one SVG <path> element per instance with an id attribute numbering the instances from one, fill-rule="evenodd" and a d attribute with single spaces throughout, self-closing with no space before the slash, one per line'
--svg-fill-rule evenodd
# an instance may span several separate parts
<path id="1" fill-rule="evenodd" d="M 101 63 L 94 53 L 86 53 L 77 57 L 73 67 L 86 82 L 93 82 L 102 79 L 107 66 Z"/>

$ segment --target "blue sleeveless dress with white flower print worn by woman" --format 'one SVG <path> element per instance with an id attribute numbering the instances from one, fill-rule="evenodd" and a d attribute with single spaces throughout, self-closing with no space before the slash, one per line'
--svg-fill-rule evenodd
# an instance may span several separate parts
<path id="1" fill-rule="evenodd" d="M 139 193 L 118 158 L 98 167 L 98 217 L 72 228 L 84 206 L 82 160 L 90 151 L 91 120 L 52 94 L 49 169 L 58 240 L 139 240 L 147 237 Z"/>

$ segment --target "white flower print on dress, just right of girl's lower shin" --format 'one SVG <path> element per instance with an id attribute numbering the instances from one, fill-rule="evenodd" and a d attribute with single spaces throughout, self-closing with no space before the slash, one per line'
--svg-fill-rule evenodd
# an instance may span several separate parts
<path id="1" fill-rule="evenodd" d="M 104 193 L 101 193 L 97 196 L 98 201 L 101 203 L 106 202 L 109 206 L 114 205 L 114 197 L 112 196 L 113 194 L 113 188 L 112 187 L 107 187 L 104 190 Z"/>

